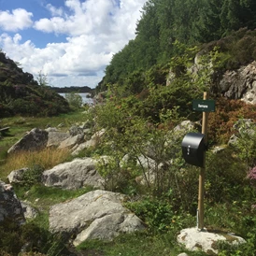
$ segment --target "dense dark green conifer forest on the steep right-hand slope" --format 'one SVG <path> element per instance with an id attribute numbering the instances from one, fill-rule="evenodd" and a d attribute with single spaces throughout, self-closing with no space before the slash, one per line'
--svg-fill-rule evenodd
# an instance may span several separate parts
<path id="1" fill-rule="evenodd" d="M 166 75 L 166 65 L 180 53 L 177 41 L 201 49 L 241 28 L 253 31 L 255 14 L 253 0 L 149 0 L 137 21 L 135 39 L 113 56 L 96 89 L 104 91 L 107 84 L 120 84 L 128 87 L 127 91 L 141 92 L 145 85 L 138 80 L 143 80 L 143 73 L 157 69 L 159 77 Z M 250 54 L 253 58 L 253 52 Z M 135 79 L 137 84 L 131 88 Z M 161 84 L 163 79 L 157 82 Z"/>

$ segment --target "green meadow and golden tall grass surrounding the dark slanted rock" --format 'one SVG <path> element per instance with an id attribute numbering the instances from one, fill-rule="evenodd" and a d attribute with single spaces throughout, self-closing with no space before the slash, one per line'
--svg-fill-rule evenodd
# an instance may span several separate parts
<path id="1" fill-rule="evenodd" d="M 82 111 L 62 114 L 58 117 L 33 118 L 33 117 L 12 117 L 1 120 L 1 126 L 9 126 L 9 133 L 0 138 L 0 178 L 7 178 L 12 171 L 22 167 L 30 167 L 39 164 L 42 168 L 48 169 L 56 164 L 63 163 L 68 158 L 67 150 L 44 149 L 40 152 L 29 152 L 25 154 L 8 155 L 7 150 L 14 145 L 21 137 L 33 128 L 45 129 L 46 127 L 57 127 L 67 132 L 71 125 L 80 124 L 86 121 Z"/>

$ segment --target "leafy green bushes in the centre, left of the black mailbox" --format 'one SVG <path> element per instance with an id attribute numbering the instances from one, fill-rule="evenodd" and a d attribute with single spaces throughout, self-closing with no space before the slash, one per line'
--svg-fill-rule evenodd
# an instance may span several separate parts
<path id="1" fill-rule="evenodd" d="M 111 181 L 111 190 L 116 189 L 117 183 L 121 182 L 121 174 L 128 187 L 133 185 L 133 182 L 128 181 L 129 177 L 131 180 L 135 175 L 141 175 L 146 180 L 149 191 L 161 193 L 168 190 L 172 177 L 170 173 L 174 171 L 168 169 L 168 162 L 171 157 L 180 158 L 177 150 L 180 139 L 177 139 L 177 134 L 168 133 L 167 129 L 180 121 L 178 108 L 163 109 L 158 113 L 158 118 L 162 121 L 161 127 L 158 127 L 158 123 L 137 116 L 136 113 L 142 111 L 145 105 L 135 96 L 119 99 L 113 95 L 106 105 L 95 108 L 99 129 L 106 129 L 104 143 L 109 159 L 102 164 L 101 173 Z M 128 156 L 126 161 L 123 161 L 124 155 Z M 150 162 L 150 158 L 154 160 L 154 164 L 150 164 L 154 176 L 152 184 L 144 163 Z M 161 163 L 165 163 L 166 171 L 159 167 Z M 173 164 L 172 168 L 175 169 L 175 166 Z M 125 186 L 122 184 L 118 187 Z"/>

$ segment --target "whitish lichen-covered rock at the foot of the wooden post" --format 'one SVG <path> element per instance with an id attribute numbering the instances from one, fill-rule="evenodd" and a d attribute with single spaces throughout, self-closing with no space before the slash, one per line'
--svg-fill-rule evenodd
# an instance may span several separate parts
<path id="1" fill-rule="evenodd" d="M 196 227 L 183 229 L 178 235 L 178 243 L 184 245 L 189 250 L 203 250 L 209 255 L 218 255 L 216 243 L 225 241 L 231 245 L 245 243 L 246 241 L 233 234 L 218 233 L 217 231 L 207 232 L 206 229 L 199 231 Z"/>

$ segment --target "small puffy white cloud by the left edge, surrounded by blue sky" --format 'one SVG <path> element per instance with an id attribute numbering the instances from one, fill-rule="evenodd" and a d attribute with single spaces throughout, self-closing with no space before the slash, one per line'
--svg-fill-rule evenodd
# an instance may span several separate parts
<path id="1" fill-rule="evenodd" d="M 27 12 L 25 9 L 18 8 L 12 10 L 12 13 L 7 11 L 0 11 L 0 28 L 5 31 L 18 31 L 31 27 L 33 21 L 31 18 L 33 14 Z"/>

